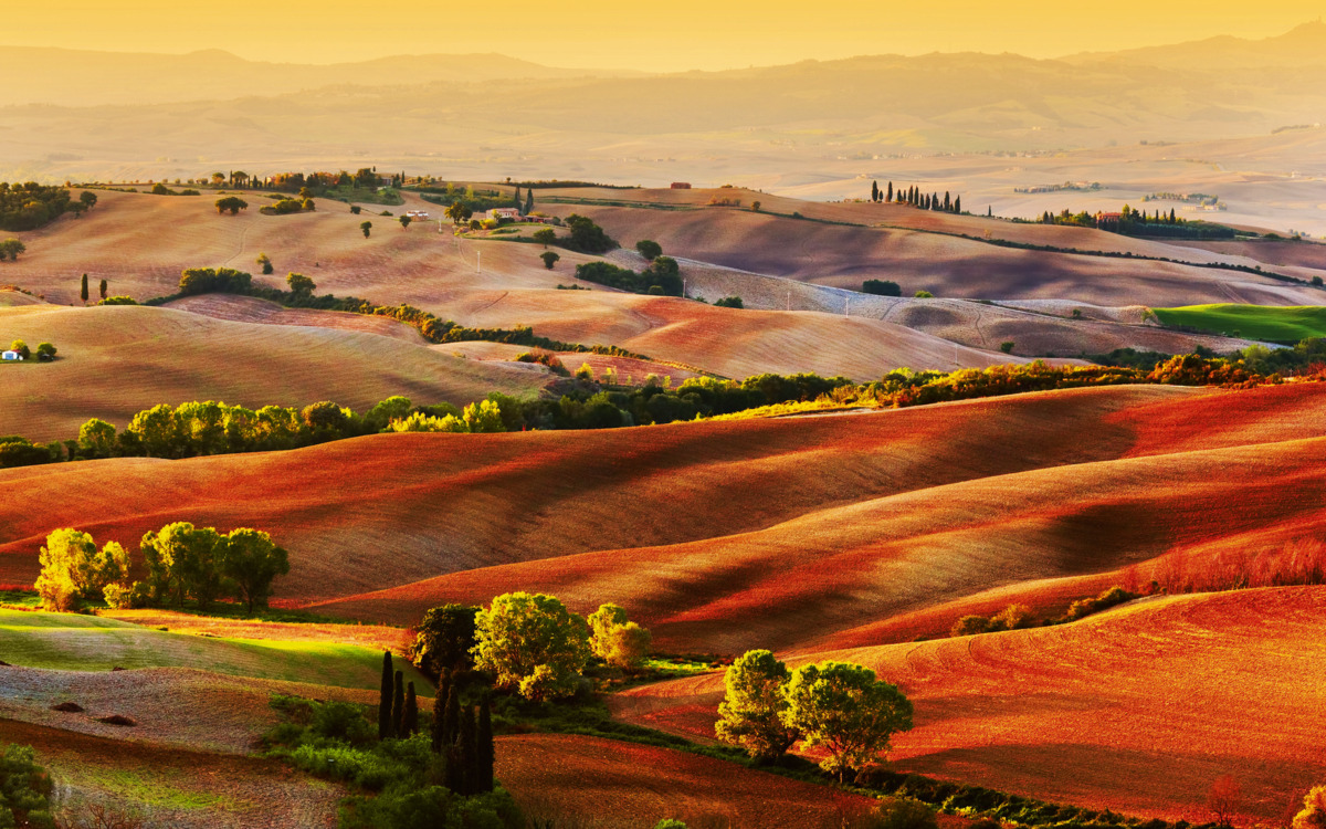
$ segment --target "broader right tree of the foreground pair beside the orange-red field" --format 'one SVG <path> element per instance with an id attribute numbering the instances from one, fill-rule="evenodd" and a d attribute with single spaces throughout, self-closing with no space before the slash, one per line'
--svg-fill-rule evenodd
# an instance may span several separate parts
<path id="1" fill-rule="evenodd" d="M 847 662 L 806 665 L 792 675 L 785 690 L 782 722 L 802 735 L 805 748 L 823 748 L 819 764 L 842 783 L 849 769 L 859 769 L 888 751 L 899 731 L 912 727 L 912 704 L 898 686 L 875 679 L 875 672 Z"/>

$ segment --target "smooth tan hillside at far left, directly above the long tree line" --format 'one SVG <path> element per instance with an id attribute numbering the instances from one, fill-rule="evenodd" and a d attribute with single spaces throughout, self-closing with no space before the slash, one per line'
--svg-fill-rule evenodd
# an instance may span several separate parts
<path id="1" fill-rule="evenodd" d="M 542 369 L 459 359 L 371 333 L 229 322 L 163 308 L 0 308 L 0 334 L 60 349 L 50 363 L 3 366 L 0 434 L 77 438 L 101 418 L 122 428 L 156 403 L 224 401 L 302 409 L 334 401 L 363 411 L 394 394 L 416 405 L 529 397 Z M 95 390 L 90 394 L 89 390 Z"/>

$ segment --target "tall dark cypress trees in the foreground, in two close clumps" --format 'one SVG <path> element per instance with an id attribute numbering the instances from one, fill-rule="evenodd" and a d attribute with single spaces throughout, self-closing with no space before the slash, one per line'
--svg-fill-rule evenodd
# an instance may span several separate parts
<path id="1" fill-rule="evenodd" d="M 382 654 L 382 692 L 378 699 L 378 739 L 404 739 L 419 731 L 419 703 L 414 682 L 392 670 L 391 653 Z M 443 670 L 432 707 L 432 752 L 444 760 L 443 785 L 469 796 L 493 791 L 493 719 L 485 694 L 476 706 L 460 704 L 459 683 Z"/>

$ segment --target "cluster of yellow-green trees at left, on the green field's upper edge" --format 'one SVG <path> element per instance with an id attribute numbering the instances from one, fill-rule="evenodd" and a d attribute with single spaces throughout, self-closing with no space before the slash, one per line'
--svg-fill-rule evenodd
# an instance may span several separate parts
<path id="1" fill-rule="evenodd" d="M 150 531 L 139 542 L 145 578 L 129 550 L 107 541 L 99 550 L 86 532 L 65 528 L 46 536 L 36 590 L 46 610 L 74 611 L 84 601 L 111 607 L 182 607 L 186 600 L 207 610 L 220 598 L 243 602 L 249 613 L 265 607 L 272 582 L 290 572 L 289 554 L 265 532 L 249 528 L 220 533 L 187 521 Z"/>

